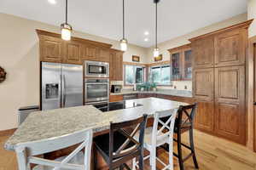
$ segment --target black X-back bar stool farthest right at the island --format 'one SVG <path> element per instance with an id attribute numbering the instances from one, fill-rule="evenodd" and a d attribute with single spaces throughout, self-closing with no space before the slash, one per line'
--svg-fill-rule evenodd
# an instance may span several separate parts
<path id="1" fill-rule="evenodd" d="M 195 156 L 195 145 L 194 145 L 194 136 L 193 136 L 193 128 L 194 128 L 194 119 L 195 119 L 195 110 L 197 104 L 194 105 L 186 105 L 180 106 L 177 111 L 177 119 L 175 121 L 174 133 L 177 134 L 177 139 L 174 141 L 177 142 L 177 154 L 173 153 L 174 156 L 178 158 L 178 163 L 180 170 L 184 169 L 183 162 L 187 161 L 189 157 L 193 157 L 193 161 L 195 164 L 195 168 L 198 167 L 198 163 Z M 189 146 L 183 144 L 181 141 L 182 133 L 189 131 Z M 183 158 L 183 147 L 190 150 L 190 154 Z"/>

